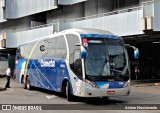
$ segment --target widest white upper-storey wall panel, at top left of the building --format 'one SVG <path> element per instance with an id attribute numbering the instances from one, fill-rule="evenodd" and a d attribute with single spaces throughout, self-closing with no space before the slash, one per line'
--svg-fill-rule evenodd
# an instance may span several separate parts
<path id="1" fill-rule="evenodd" d="M 57 0 L 6 0 L 6 18 L 21 18 L 56 8 Z"/>

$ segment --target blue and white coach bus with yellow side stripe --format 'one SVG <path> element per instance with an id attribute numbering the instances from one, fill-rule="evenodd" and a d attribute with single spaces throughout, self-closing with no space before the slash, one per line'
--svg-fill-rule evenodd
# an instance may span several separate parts
<path id="1" fill-rule="evenodd" d="M 68 100 L 130 93 L 126 45 L 108 31 L 69 29 L 20 45 L 16 53 L 16 79 L 24 88 L 62 92 Z"/>

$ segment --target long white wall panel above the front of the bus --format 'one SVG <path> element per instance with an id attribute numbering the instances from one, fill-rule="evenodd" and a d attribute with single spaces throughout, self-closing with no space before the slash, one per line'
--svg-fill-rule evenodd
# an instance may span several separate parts
<path id="1" fill-rule="evenodd" d="M 143 34 L 140 27 L 142 9 L 110 16 L 72 21 L 60 24 L 60 30 L 68 28 L 96 28 L 119 36 Z"/>

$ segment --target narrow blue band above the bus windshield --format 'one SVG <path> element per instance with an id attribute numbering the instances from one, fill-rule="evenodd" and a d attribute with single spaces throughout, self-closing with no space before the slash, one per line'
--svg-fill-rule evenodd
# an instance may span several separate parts
<path id="1" fill-rule="evenodd" d="M 81 38 L 110 38 L 110 39 L 122 39 L 120 36 L 104 35 L 104 34 L 80 34 Z"/>

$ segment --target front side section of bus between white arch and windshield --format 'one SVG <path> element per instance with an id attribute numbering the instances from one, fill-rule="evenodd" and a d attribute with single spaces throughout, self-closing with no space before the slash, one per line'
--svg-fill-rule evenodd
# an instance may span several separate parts
<path id="1" fill-rule="evenodd" d="M 82 82 L 85 78 L 84 59 L 81 58 L 80 38 L 74 34 L 66 35 L 69 48 L 69 76 L 75 92 L 82 92 Z M 79 94 L 79 93 L 78 93 Z"/>

